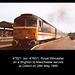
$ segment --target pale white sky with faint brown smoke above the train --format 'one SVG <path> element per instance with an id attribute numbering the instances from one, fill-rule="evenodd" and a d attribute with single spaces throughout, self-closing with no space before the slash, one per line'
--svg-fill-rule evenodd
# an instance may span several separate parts
<path id="1" fill-rule="evenodd" d="M 41 17 L 62 32 L 75 32 L 75 3 L 0 3 L 0 22 L 14 23 L 25 13 Z"/>

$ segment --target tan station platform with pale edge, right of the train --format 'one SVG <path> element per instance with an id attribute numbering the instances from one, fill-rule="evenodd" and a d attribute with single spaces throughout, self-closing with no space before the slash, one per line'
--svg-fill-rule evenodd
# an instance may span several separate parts
<path id="1" fill-rule="evenodd" d="M 32 50 L 75 50 L 75 40 L 65 37 L 40 44 L 33 47 Z"/>

